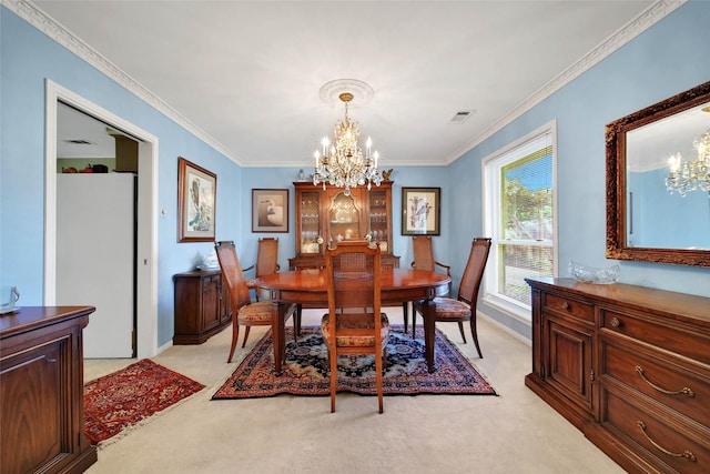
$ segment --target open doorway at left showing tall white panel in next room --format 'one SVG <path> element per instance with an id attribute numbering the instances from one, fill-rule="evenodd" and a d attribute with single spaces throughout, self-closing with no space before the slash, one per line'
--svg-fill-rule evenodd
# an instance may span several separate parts
<path id="1" fill-rule="evenodd" d="M 97 311 L 84 359 L 135 356 L 138 141 L 57 108 L 57 304 Z"/>

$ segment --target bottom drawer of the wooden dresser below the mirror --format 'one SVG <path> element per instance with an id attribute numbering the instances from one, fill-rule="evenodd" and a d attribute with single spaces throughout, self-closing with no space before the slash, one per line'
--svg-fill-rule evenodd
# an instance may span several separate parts
<path id="1" fill-rule="evenodd" d="M 646 406 L 620 391 L 604 390 L 602 425 L 663 472 L 710 472 L 710 431 L 697 430 L 660 407 Z M 661 467 L 667 466 L 667 467 Z"/>

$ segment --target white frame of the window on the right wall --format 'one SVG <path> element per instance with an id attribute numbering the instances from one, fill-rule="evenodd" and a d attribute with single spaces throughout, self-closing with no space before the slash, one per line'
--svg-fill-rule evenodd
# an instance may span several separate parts
<path id="1" fill-rule="evenodd" d="M 523 153 L 521 155 L 514 155 L 513 153 L 525 147 L 527 143 L 532 142 L 536 139 L 541 138 L 545 134 L 550 134 L 550 145 L 552 147 L 552 241 L 551 245 L 549 241 L 527 241 L 527 240 L 506 240 L 500 235 L 500 204 L 501 204 L 501 185 L 500 174 L 505 167 L 510 165 L 517 161 L 525 159 L 529 153 Z M 534 152 L 535 150 L 530 151 Z M 534 130 L 525 137 L 516 140 L 513 143 L 488 154 L 481 160 L 481 202 L 483 202 L 483 218 L 484 218 L 484 235 L 493 239 L 490 246 L 490 255 L 488 264 L 486 265 L 486 272 L 484 274 L 483 282 L 483 301 L 485 304 L 493 306 L 499 311 L 503 311 L 520 321 L 531 321 L 531 307 L 530 305 L 523 304 L 521 302 L 514 300 L 498 292 L 499 281 L 499 252 L 498 244 L 505 242 L 506 244 L 524 244 L 535 246 L 548 246 L 551 249 L 552 254 L 552 276 L 558 275 L 559 259 L 558 259 L 558 203 L 557 203 L 557 121 L 552 120 L 542 127 Z"/>

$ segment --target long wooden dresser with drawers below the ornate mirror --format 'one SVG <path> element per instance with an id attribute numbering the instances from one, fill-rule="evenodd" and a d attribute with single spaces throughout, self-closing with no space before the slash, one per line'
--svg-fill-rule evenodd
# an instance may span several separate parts
<path id="1" fill-rule="evenodd" d="M 710 299 L 527 282 L 526 385 L 629 472 L 710 472 Z"/>

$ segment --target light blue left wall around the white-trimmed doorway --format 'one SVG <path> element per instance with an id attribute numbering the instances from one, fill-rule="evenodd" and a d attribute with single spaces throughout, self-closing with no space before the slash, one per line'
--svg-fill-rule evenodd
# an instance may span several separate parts
<path id="1" fill-rule="evenodd" d="M 194 268 L 210 243 L 176 242 L 178 157 L 217 174 L 217 238 L 240 234 L 242 170 L 63 47 L 0 8 L 0 300 L 17 285 L 21 305 L 43 304 L 45 79 L 158 137 L 158 344 L 173 336 L 172 275 Z M 106 249 L 110 251 L 111 249 Z"/>

